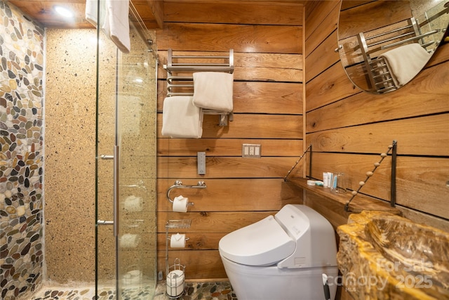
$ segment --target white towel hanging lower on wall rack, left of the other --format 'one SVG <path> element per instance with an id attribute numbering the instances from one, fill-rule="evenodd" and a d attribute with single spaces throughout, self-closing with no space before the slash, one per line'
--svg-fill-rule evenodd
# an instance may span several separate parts
<path id="1" fill-rule="evenodd" d="M 163 100 L 162 135 L 172 138 L 201 138 L 203 110 L 192 96 L 173 96 Z"/>

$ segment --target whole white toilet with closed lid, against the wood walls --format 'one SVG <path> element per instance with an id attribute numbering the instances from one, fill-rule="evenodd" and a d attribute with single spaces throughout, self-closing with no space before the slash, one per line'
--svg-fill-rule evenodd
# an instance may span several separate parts
<path id="1" fill-rule="evenodd" d="M 274 216 L 222 237 L 220 256 L 239 300 L 330 299 L 338 275 L 335 232 L 310 207 L 287 204 Z"/>

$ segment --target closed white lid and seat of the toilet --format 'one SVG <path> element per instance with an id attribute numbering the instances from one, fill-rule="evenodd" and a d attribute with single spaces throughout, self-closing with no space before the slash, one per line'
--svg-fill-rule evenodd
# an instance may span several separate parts
<path id="1" fill-rule="evenodd" d="M 247 266 L 269 266 L 295 251 L 295 241 L 273 216 L 222 237 L 220 254 Z"/>

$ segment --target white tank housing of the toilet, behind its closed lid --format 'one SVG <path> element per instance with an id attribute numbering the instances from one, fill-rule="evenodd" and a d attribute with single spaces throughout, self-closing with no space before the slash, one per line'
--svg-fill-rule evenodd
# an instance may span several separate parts
<path id="1" fill-rule="evenodd" d="M 335 232 L 321 214 L 305 205 L 287 204 L 274 218 L 296 241 L 295 251 L 278 268 L 337 266 Z"/>

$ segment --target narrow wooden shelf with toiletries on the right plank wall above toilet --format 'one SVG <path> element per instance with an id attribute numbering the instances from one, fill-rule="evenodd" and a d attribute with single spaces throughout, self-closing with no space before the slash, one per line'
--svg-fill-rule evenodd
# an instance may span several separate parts
<path id="1" fill-rule="evenodd" d="M 307 185 L 306 178 L 290 178 L 288 181 L 293 183 L 300 188 L 307 190 L 308 192 L 314 193 L 315 195 L 319 195 L 320 197 L 325 198 L 326 200 L 332 200 L 334 202 L 338 202 L 342 204 L 344 207 L 347 202 L 351 199 L 351 193 L 346 194 L 338 194 L 330 192 L 329 188 L 323 188 L 319 185 Z M 389 202 L 384 202 L 382 200 L 376 200 L 371 197 L 367 197 L 364 195 L 356 195 L 354 199 L 349 204 L 349 212 L 361 212 L 363 210 L 375 210 L 375 211 L 386 211 L 391 214 L 400 214 L 400 211 L 394 207 L 391 207 Z"/>

